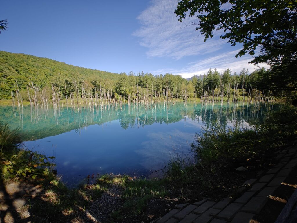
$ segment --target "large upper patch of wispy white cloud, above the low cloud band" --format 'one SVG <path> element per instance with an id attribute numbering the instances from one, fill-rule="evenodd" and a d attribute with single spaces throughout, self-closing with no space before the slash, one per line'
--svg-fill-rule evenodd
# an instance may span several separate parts
<path id="1" fill-rule="evenodd" d="M 195 18 L 186 18 L 178 22 L 174 10 L 175 0 L 153 0 L 151 5 L 140 13 L 139 30 L 133 35 L 140 37 L 140 45 L 147 47 L 148 56 L 181 59 L 184 56 L 195 56 L 217 51 L 225 40 L 213 38 L 204 44 L 204 36 L 188 26 Z"/>

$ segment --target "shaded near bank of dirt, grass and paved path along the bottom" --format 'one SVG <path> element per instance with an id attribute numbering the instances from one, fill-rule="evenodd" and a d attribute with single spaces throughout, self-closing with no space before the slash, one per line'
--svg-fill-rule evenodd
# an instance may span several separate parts
<path id="1" fill-rule="evenodd" d="M 165 222 L 165 219 L 169 220 L 170 218 L 179 221 L 184 218 L 193 218 L 194 220 L 194 218 L 205 217 L 210 211 L 215 211 L 217 218 L 228 221 L 239 215 L 244 215 L 247 218 L 261 220 L 261 222 L 272 222 L 272 218 L 274 220 L 277 218 L 286 200 L 297 187 L 297 178 L 293 174 L 296 173 L 294 167 L 297 164 L 297 141 L 292 142 L 292 145 L 294 144 L 295 146 L 283 147 L 275 151 L 273 155 L 275 158 L 271 159 L 266 167 L 251 169 L 247 171 L 248 174 L 247 172 L 231 173 L 241 175 L 241 177 L 238 178 L 235 188 L 226 188 L 226 193 L 221 196 L 218 196 L 215 190 L 214 193 L 200 190 L 197 191 L 197 194 L 200 192 L 198 196 L 189 197 L 186 192 L 183 194 L 181 189 L 193 191 L 191 185 L 175 191 L 177 188 L 174 187 L 173 181 L 168 182 L 167 190 L 164 190 L 164 194 L 162 194 L 162 191 L 156 190 L 162 188 L 162 184 L 164 185 L 162 180 L 132 179 L 128 176 L 115 175 L 102 176 L 95 185 L 75 189 L 77 197 L 72 197 L 74 196 L 73 190 L 69 193 L 69 189 L 64 188 L 56 181 L 51 182 L 48 186 L 42 184 L 36 186 L 30 181 L 12 181 L 5 187 L 9 198 L 7 195 L 5 196 L 3 190 L 0 193 L 1 200 L 3 199 L 1 219 L 2 222 L 28 222 L 33 220 L 33 215 L 35 215 L 34 219 L 39 219 L 39 222 L 58 222 L 57 219 L 60 222 L 150 222 L 153 220 Z M 173 184 L 171 189 L 169 188 L 170 184 Z M 154 191 L 155 194 L 151 193 L 149 197 L 145 196 L 145 193 L 148 195 L 150 192 L 144 190 Z M 125 200 L 129 200 L 127 199 L 129 196 L 132 196 L 132 194 L 128 194 L 129 192 L 136 197 L 146 197 L 140 212 L 137 212 L 137 208 L 141 204 L 139 200 L 135 203 L 125 202 Z M 140 196 L 141 193 L 142 196 Z M 72 200 L 69 199 L 70 197 Z M 222 197 L 225 198 L 222 199 Z M 60 201 L 61 203 L 57 202 L 59 198 L 64 198 L 66 202 L 73 202 L 71 206 L 76 206 L 77 209 L 66 208 L 66 204 L 62 204 L 63 200 Z M 73 198 L 78 200 L 75 201 Z M 254 200 L 259 199 L 261 200 L 260 206 L 250 205 Z M 86 205 L 85 207 L 83 207 L 83 203 Z M 138 207 L 133 207 L 133 205 L 138 205 Z M 229 215 L 228 210 L 232 205 L 236 210 Z M 248 207 L 258 209 L 245 210 L 244 205 L 245 209 Z M 42 206 L 45 206 L 45 209 Z M 62 207 L 68 210 L 59 210 Z M 197 212 L 199 207 L 201 211 Z M 49 213 L 49 208 L 52 208 L 53 212 Z M 239 210 L 241 208 L 242 211 Z M 129 212 L 129 209 L 134 209 L 134 212 Z M 195 211 L 196 209 L 197 211 Z M 225 216 L 225 212 L 228 213 L 228 216 Z"/>

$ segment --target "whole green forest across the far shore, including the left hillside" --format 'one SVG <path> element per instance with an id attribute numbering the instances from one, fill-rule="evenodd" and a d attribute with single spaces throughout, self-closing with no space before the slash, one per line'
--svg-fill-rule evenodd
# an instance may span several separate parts
<path id="1" fill-rule="evenodd" d="M 69 98 L 71 92 L 75 92 L 77 98 L 84 98 L 87 94 L 95 97 L 99 89 L 102 95 L 109 94 L 110 98 L 131 100 L 141 98 L 141 95 L 176 99 L 202 98 L 205 92 L 208 95 L 227 96 L 236 91 L 237 96 L 247 96 L 251 90 L 276 96 L 296 93 L 294 79 L 280 83 L 271 74 L 271 70 L 260 67 L 252 73 L 245 68 L 239 73 L 232 73 L 229 68 L 219 73 L 217 69 L 210 68 L 206 74 L 189 80 L 170 73 L 153 75 L 130 71 L 129 74 L 116 74 L 67 65 L 47 58 L 0 51 L 0 99 L 11 99 L 18 92 L 23 101 L 29 101 L 32 91 L 36 89 L 37 98 L 44 94 L 49 101 L 54 97 L 53 89 L 59 99 Z M 276 82 L 278 88 L 275 87 Z"/>

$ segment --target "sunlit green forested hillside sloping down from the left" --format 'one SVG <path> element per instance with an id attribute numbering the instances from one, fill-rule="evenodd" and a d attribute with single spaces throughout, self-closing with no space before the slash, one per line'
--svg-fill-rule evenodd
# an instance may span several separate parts
<path id="1" fill-rule="evenodd" d="M 55 86 L 64 86 L 73 81 L 84 80 L 91 85 L 93 81 L 113 86 L 119 75 L 101 70 L 92 70 L 83 67 L 68 65 L 52 59 L 40 58 L 27 54 L 15 54 L 0 51 L 0 99 L 11 98 L 16 81 L 20 89 L 26 89 L 29 81 L 33 81 L 41 89 Z"/>

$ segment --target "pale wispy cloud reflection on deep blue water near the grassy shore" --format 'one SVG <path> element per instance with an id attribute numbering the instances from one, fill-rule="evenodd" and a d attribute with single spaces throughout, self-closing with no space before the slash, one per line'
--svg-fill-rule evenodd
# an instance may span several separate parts
<path id="1" fill-rule="evenodd" d="M 140 161 L 143 168 L 155 170 L 164 167 L 170 153 L 188 154 L 193 134 L 175 129 L 167 133 L 149 133 L 147 137 L 149 140 L 142 142 L 142 148 L 135 152 L 143 157 Z"/>

